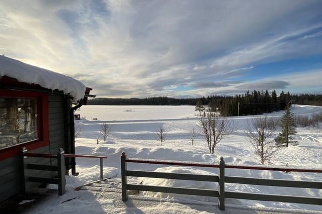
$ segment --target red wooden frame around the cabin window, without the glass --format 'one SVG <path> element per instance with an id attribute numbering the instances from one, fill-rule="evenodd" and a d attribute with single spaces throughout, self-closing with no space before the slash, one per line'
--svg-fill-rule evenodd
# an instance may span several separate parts
<path id="1" fill-rule="evenodd" d="M 48 94 L 42 92 L 0 89 L 0 97 L 35 98 L 37 100 L 38 139 L 16 146 L 0 149 L 0 161 L 17 156 L 21 149 L 34 150 L 49 145 Z"/>

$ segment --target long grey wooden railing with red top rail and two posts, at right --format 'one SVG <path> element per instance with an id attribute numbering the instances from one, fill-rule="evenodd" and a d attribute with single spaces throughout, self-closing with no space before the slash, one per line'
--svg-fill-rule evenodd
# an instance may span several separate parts
<path id="1" fill-rule="evenodd" d="M 211 167 L 211 168 L 218 168 L 218 175 L 196 175 L 196 174 L 184 174 L 184 173 L 163 173 L 163 172 L 127 170 L 127 163 Z M 239 198 L 239 199 L 250 199 L 250 200 L 280 201 L 280 202 L 322 205 L 322 197 L 320 198 L 300 197 L 300 196 L 290 196 L 290 195 L 256 194 L 256 193 L 246 193 L 246 192 L 225 191 L 225 183 L 322 189 L 322 182 L 317 182 L 317 181 L 294 181 L 294 180 L 225 176 L 225 168 L 271 170 L 271 171 L 284 171 L 284 172 L 294 171 L 294 172 L 322 173 L 322 169 L 321 170 L 320 169 L 294 169 L 294 168 L 292 169 L 292 168 L 284 168 L 284 167 L 276 168 L 276 167 L 260 167 L 260 166 L 225 165 L 223 157 L 220 158 L 218 165 L 202 164 L 202 163 L 194 163 L 194 162 L 182 162 L 182 161 L 158 161 L 158 160 L 146 160 L 146 159 L 134 159 L 134 158 L 128 159 L 126 158 L 125 152 L 123 152 L 121 156 L 122 200 L 127 201 L 128 190 L 141 190 L 141 191 L 167 192 L 167 193 L 177 193 L 177 194 L 218 197 L 218 207 L 220 210 L 225 209 L 225 198 Z M 213 182 L 218 182 L 218 190 L 128 184 L 127 183 L 128 176 L 213 181 Z"/>

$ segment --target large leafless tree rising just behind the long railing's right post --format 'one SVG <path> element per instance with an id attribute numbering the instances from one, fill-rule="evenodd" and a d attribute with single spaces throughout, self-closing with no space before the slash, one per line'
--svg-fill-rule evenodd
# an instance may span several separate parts
<path id="1" fill-rule="evenodd" d="M 226 117 L 221 117 L 218 113 L 204 114 L 200 117 L 199 122 L 210 154 L 213 154 L 216 145 L 234 130 L 233 122 Z"/>

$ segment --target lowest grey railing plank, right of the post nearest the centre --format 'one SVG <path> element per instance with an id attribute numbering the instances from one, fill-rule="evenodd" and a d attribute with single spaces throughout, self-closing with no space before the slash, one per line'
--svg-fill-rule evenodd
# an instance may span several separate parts
<path id="1" fill-rule="evenodd" d="M 305 203 L 305 204 L 322 204 L 322 198 L 314 197 L 296 197 L 287 195 L 272 195 L 272 194 L 254 194 L 241 192 L 225 192 L 226 198 L 238 198 L 249 200 L 264 200 L 264 201 L 279 201 L 289 203 Z"/>

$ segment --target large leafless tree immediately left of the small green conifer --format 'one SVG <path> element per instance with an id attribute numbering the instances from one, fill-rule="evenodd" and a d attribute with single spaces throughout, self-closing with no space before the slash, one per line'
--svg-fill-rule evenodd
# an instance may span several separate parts
<path id="1" fill-rule="evenodd" d="M 254 118 L 246 125 L 245 134 L 252 144 L 255 154 L 261 159 L 261 164 L 271 164 L 275 153 L 279 150 L 274 144 L 276 124 L 276 120 L 265 116 Z"/>

